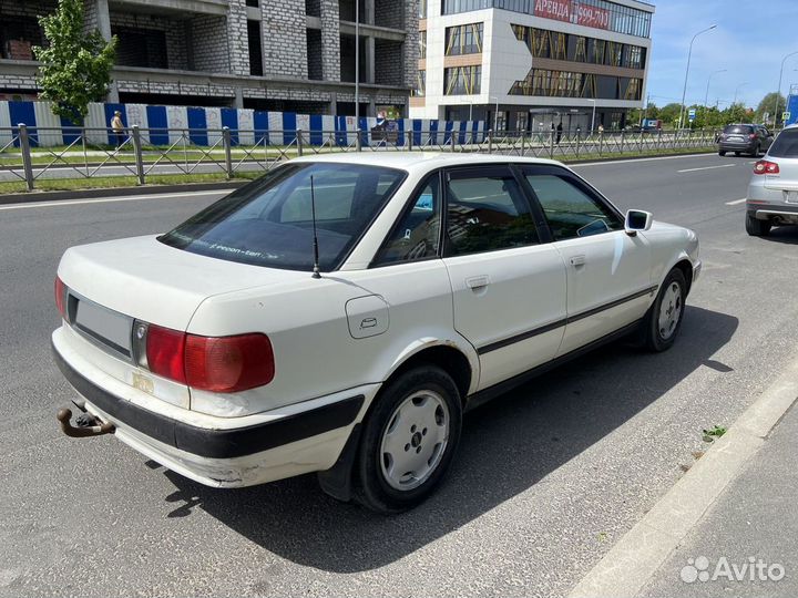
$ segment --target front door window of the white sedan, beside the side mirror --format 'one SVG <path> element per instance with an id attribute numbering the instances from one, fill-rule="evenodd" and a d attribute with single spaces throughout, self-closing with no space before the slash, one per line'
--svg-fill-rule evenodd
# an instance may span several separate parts
<path id="1" fill-rule="evenodd" d="M 623 229 L 623 221 L 597 198 L 565 177 L 526 173 L 554 240 L 590 237 Z"/>

